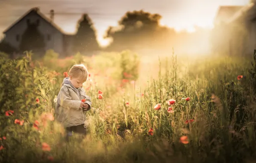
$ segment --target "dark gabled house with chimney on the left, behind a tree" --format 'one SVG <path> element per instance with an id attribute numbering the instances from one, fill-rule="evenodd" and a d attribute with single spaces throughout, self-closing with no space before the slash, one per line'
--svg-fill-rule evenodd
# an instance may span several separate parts
<path id="1" fill-rule="evenodd" d="M 35 7 L 27 11 L 11 26 L 3 31 L 5 35 L 4 41 L 12 47 L 19 50 L 21 37 L 27 29 L 28 24 L 37 23 L 37 29 L 43 35 L 45 43 L 45 51 L 53 49 L 61 55 L 66 55 L 71 51 L 72 35 L 64 33 L 57 24 L 54 23 L 54 11 L 50 11 L 50 18 L 47 18 L 40 12 L 39 8 Z"/>

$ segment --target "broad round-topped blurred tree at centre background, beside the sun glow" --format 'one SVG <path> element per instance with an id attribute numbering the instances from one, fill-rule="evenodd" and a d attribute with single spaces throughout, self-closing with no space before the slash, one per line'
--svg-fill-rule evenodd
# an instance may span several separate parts
<path id="1" fill-rule="evenodd" d="M 170 28 L 160 26 L 161 18 L 159 14 L 151 14 L 143 10 L 125 13 L 119 21 L 119 29 L 109 27 L 106 32 L 105 38 L 113 39 L 107 50 L 122 51 L 136 48 L 136 45 L 138 47 L 166 47 L 168 36 L 175 32 Z"/>

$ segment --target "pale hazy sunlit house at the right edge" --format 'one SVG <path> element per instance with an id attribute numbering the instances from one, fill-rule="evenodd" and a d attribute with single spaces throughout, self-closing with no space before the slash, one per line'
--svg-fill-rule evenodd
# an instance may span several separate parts
<path id="1" fill-rule="evenodd" d="M 255 3 L 246 6 L 220 6 L 214 26 L 221 29 L 219 41 L 227 47 L 229 54 L 251 55 L 256 49 Z"/>

